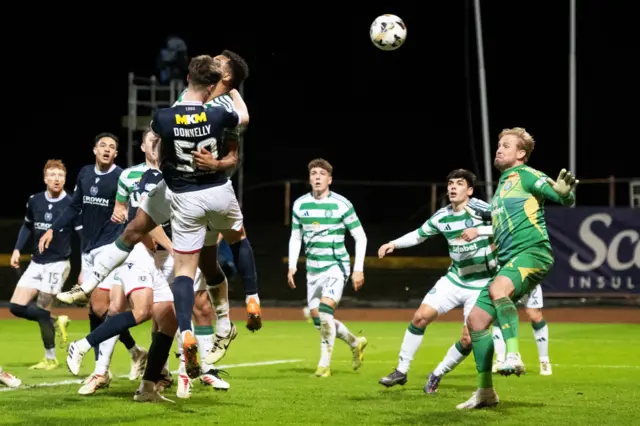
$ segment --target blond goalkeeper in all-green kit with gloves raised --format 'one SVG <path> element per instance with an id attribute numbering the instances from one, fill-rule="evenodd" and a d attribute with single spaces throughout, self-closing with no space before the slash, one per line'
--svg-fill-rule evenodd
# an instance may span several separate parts
<path id="1" fill-rule="evenodd" d="M 571 172 L 562 170 L 554 181 L 526 165 L 534 140 L 522 128 L 500 133 L 494 166 L 500 181 L 491 200 L 494 241 L 498 251 L 498 272 L 490 286 L 481 291 L 469 314 L 473 355 L 478 371 L 478 390 L 463 408 L 482 408 L 498 403 L 493 390 L 491 323 L 497 319 L 507 346 L 500 374 L 520 375 L 524 364 L 518 348 L 518 310 L 514 304 L 540 284 L 553 266 L 553 252 L 544 218 L 545 200 L 570 206 L 578 184 Z M 482 213 L 482 212 L 477 212 Z M 465 232 L 463 239 L 470 236 Z"/>

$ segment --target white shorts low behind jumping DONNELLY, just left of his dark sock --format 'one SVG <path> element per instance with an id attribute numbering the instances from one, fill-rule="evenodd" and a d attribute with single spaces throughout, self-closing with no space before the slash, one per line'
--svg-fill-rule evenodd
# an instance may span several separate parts
<path id="1" fill-rule="evenodd" d="M 154 256 L 144 244 L 135 245 L 122 267 L 117 269 L 125 296 L 143 288 L 153 289 L 153 302 L 173 302 L 173 292 L 162 271 L 156 267 Z"/>

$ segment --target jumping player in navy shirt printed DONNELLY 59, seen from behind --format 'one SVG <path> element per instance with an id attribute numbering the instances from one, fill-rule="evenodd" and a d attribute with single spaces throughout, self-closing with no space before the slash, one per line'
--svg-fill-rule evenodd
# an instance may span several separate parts
<path id="1" fill-rule="evenodd" d="M 164 185 L 149 194 L 146 206 L 154 222 L 162 223 L 157 219 L 166 218 L 167 212 L 159 210 L 169 201 L 176 276 L 174 303 L 190 377 L 199 375 L 200 368 L 191 316 L 194 279 L 207 227 L 211 225 L 216 231 L 242 227 L 242 213 L 226 170 L 200 169 L 194 162 L 194 153 L 210 153 L 221 160 L 225 129 L 248 123 L 247 108 L 237 90 L 230 92 L 235 110 L 204 107 L 221 78 L 222 69 L 214 58 L 193 58 L 189 64 L 189 86 L 182 101 L 172 108 L 158 110 L 151 123 L 151 129 L 161 140 Z M 214 261 L 217 263 L 217 258 Z"/>

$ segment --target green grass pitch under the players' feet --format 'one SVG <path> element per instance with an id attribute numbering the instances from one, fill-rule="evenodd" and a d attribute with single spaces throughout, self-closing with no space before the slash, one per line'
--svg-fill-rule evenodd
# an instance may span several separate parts
<path id="1" fill-rule="evenodd" d="M 640 327 L 637 325 L 550 324 L 550 353 L 554 374 L 538 375 L 537 350 L 528 324 L 521 324 L 521 350 L 529 373 L 520 378 L 495 377 L 501 403 L 495 409 L 459 411 L 456 404 L 475 390 L 473 356 L 444 377 L 437 395 L 425 395 L 426 375 L 444 356 L 460 332 L 460 324 L 440 323 L 425 334 L 404 387 L 385 389 L 377 382 L 396 365 L 407 323 L 351 322 L 347 326 L 369 339 L 360 371 L 351 370 L 351 353 L 336 342 L 333 376 L 312 374 L 320 354 L 318 332 L 306 322 L 266 322 L 255 335 L 245 329 L 232 343 L 223 364 L 274 360 L 298 362 L 228 369 L 228 392 L 207 391 L 195 384 L 190 400 L 165 396 L 175 404 L 141 404 L 132 397 L 138 383 L 115 379 L 96 395 L 77 394 L 80 385 L 60 385 L 0 392 L 0 423 L 14 424 L 637 424 L 640 414 Z M 0 322 L 0 365 L 25 385 L 80 379 L 93 369 L 85 358 L 81 375 L 66 369 L 58 351 L 59 369 L 35 372 L 43 350 L 34 323 Z M 70 325 L 71 339 L 88 330 L 86 321 Z M 132 330 L 148 348 L 149 326 Z M 112 371 L 128 372 L 128 355 L 118 344 Z M 172 368 L 177 360 L 172 358 Z M 195 423 L 198 422 L 198 423 Z"/>

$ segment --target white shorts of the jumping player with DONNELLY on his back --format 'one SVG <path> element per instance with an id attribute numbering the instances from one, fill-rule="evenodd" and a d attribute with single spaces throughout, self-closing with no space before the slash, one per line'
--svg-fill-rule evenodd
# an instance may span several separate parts
<path id="1" fill-rule="evenodd" d="M 207 227 L 212 232 L 240 230 L 242 211 L 231 181 L 200 191 L 174 193 L 165 181 L 142 200 L 140 208 L 156 224 L 171 220 L 173 249 L 179 253 L 194 253 L 205 245 Z M 211 245 L 207 241 L 207 245 Z"/>

